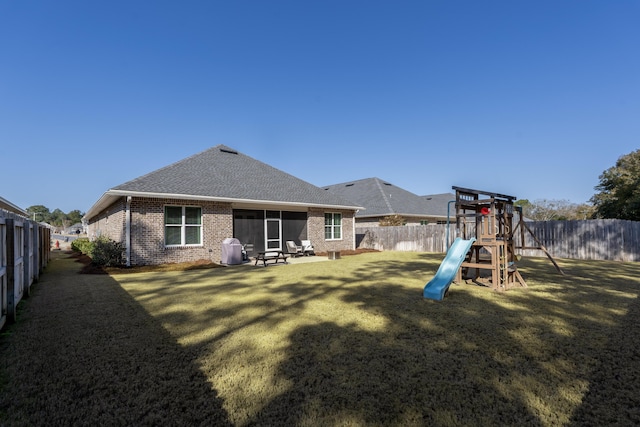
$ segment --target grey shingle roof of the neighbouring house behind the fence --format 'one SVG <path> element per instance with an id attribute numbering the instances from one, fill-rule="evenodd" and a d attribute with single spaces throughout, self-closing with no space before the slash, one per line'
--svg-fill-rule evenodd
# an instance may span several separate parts
<path id="1" fill-rule="evenodd" d="M 322 187 L 328 193 L 341 196 L 353 203 L 364 206 L 364 212 L 358 212 L 356 218 L 381 217 L 389 215 L 400 216 L 443 216 L 439 209 L 434 208 L 433 203 L 422 196 L 411 193 L 383 181 L 380 178 L 366 178 L 357 181 L 348 181 L 341 184 Z M 453 196 L 455 198 L 455 196 Z"/>

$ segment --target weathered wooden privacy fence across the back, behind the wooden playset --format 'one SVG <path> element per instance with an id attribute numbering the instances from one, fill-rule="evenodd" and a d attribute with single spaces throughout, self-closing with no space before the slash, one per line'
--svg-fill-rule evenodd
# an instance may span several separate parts
<path id="1" fill-rule="evenodd" d="M 640 261 L 640 222 L 618 219 L 514 223 L 516 248 L 544 246 L 556 258 Z M 528 229 L 531 230 L 531 233 Z M 456 236 L 449 225 L 449 242 Z M 377 250 L 446 252 L 447 225 L 357 227 L 357 246 Z M 535 236 L 535 238 L 534 238 Z M 545 256 L 539 249 L 516 249 L 523 256 Z"/>

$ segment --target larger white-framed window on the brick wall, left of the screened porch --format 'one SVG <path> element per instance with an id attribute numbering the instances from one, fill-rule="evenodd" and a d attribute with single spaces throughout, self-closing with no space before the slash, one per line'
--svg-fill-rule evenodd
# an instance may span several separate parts
<path id="1" fill-rule="evenodd" d="M 202 208 L 165 206 L 164 244 L 165 246 L 202 244 Z"/>

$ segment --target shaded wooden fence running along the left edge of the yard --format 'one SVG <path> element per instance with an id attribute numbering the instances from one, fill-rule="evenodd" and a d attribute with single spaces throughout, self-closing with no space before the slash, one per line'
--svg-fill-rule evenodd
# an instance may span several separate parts
<path id="1" fill-rule="evenodd" d="M 51 231 L 0 209 L 0 328 L 16 320 L 16 306 L 49 262 Z"/>

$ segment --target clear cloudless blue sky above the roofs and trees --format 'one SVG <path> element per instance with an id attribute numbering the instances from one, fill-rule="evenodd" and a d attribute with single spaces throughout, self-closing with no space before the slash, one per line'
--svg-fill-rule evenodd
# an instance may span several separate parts
<path id="1" fill-rule="evenodd" d="M 0 196 L 84 212 L 225 144 L 318 186 L 586 202 L 640 148 L 638 22 L 637 0 L 0 0 Z"/>

